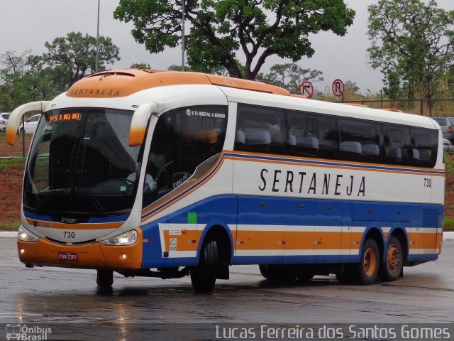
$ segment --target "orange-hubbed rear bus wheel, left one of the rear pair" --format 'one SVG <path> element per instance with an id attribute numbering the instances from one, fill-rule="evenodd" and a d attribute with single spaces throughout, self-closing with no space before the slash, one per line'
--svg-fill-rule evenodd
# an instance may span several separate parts
<path id="1" fill-rule="evenodd" d="M 362 245 L 360 263 L 358 264 L 358 283 L 368 286 L 377 279 L 380 264 L 380 251 L 374 239 L 367 239 Z"/>

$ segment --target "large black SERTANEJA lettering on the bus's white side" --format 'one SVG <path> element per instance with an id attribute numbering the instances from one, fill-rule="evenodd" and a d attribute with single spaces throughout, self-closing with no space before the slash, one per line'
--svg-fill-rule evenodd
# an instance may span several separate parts
<path id="1" fill-rule="evenodd" d="M 318 182 L 323 183 L 321 188 L 317 188 Z M 357 197 L 365 197 L 365 183 L 365 176 L 297 173 L 278 169 L 268 171 L 267 168 L 262 168 L 258 189 L 261 192 L 265 192 L 269 188 L 273 193 L 356 195 Z M 321 190 L 321 192 L 318 193 L 318 190 Z"/>

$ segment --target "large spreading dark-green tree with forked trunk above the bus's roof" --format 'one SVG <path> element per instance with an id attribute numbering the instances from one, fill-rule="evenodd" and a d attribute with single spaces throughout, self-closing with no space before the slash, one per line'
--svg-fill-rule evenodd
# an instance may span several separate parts
<path id="1" fill-rule="evenodd" d="M 184 0 L 189 21 L 187 60 L 193 70 L 223 67 L 232 77 L 255 79 L 271 55 L 294 62 L 311 57 L 309 34 L 345 35 L 355 11 L 343 0 Z M 114 18 L 133 22 L 133 37 L 152 53 L 179 45 L 182 0 L 120 0 Z M 186 31 L 186 30 L 185 30 Z M 244 75 L 237 53 L 245 55 Z"/>

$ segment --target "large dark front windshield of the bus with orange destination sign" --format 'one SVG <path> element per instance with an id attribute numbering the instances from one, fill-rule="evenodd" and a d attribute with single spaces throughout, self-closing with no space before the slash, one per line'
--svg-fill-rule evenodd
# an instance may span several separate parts
<path id="1" fill-rule="evenodd" d="M 41 117 L 26 166 L 24 208 L 60 220 L 131 212 L 140 147 L 132 111 L 58 109 Z"/>

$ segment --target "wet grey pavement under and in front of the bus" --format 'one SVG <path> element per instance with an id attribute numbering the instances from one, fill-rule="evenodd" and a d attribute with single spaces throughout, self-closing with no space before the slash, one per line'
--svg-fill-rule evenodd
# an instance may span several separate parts
<path id="1" fill-rule="evenodd" d="M 96 271 L 26 269 L 15 239 L 6 238 L 0 238 L 0 264 L 0 340 L 18 324 L 35 328 L 29 335 L 50 328 L 47 340 L 216 340 L 229 338 L 216 335 L 219 326 L 235 324 L 454 323 L 453 241 L 443 242 L 438 261 L 372 286 L 340 285 L 334 276 L 275 284 L 258 266 L 232 266 L 231 279 L 218 280 L 210 294 L 194 293 L 189 277 L 118 274 L 113 290 L 103 292 Z"/>

